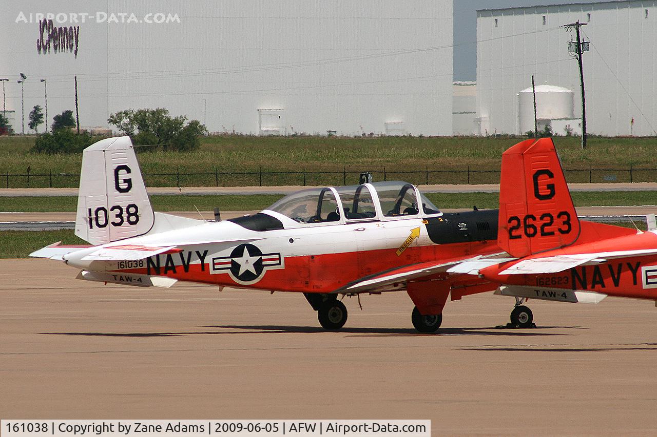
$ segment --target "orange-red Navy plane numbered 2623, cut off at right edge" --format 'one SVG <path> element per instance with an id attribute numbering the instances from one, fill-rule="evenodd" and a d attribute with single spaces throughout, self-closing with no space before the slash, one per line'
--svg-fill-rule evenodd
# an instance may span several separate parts
<path id="1" fill-rule="evenodd" d="M 551 138 L 526 140 L 502 157 L 497 243 L 512 258 L 448 270 L 499 283 L 516 297 L 511 322 L 532 324 L 525 299 L 598 303 L 633 297 L 657 303 L 657 230 L 580 222 Z M 650 223 L 650 220 L 648 220 Z"/>

